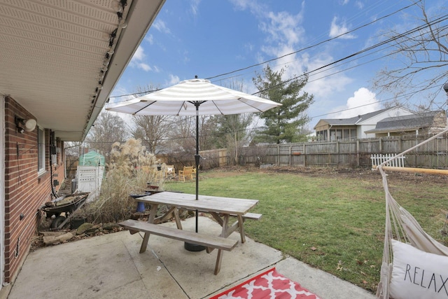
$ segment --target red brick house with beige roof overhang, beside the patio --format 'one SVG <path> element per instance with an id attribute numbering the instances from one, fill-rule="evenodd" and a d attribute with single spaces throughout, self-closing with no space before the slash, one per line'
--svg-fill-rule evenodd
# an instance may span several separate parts
<path id="1" fill-rule="evenodd" d="M 64 141 L 83 141 L 164 3 L 0 0 L 0 298 L 64 180 Z"/>

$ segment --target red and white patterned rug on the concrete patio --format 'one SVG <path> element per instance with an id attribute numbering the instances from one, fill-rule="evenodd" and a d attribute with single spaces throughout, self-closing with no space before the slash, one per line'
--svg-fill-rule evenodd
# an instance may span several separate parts
<path id="1" fill-rule="evenodd" d="M 319 299 L 300 284 L 284 277 L 275 268 L 267 270 L 210 299 Z"/>

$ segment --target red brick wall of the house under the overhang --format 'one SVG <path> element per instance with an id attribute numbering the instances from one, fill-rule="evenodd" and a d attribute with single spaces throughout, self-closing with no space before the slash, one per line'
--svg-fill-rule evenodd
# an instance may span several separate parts
<path id="1" fill-rule="evenodd" d="M 5 100 L 5 282 L 15 279 L 36 235 L 39 208 L 52 200 L 52 179 L 64 179 L 62 142 L 50 169 L 50 130 L 45 130 L 45 172 L 38 175 L 38 130 L 20 133 L 15 116 L 34 118 L 12 98 Z M 37 120 L 39 123 L 39 120 Z M 51 171 L 50 171 L 51 170 Z M 58 174 L 52 178 L 50 172 Z M 59 186 L 60 186 L 59 183 Z M 53 188 L 54 192 L 57 192 Z"/>

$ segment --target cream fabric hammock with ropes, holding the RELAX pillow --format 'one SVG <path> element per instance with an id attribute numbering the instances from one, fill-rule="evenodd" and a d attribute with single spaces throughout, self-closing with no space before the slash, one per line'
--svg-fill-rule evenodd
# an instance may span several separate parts
<path id="1" fill-rule="evenodd" d="M 393 199 L 384 172 L 395 170 L 384 166 L 391 160 L 446 132 L 448 128 L 377 167 L 386 195 L 386 233 L 377 298 L 448 298 L 448 247 L 430 237 Z"/>

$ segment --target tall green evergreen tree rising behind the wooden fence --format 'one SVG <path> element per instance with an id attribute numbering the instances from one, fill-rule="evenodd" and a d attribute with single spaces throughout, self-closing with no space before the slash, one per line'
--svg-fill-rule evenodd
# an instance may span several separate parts
<path id="1" fill-rule="evenodd" d="M 309 122 L 305 111 L 314 102 L 313 95 L 302 92 L 308 76 L 300 76 L 283 83 L 281 77 L 284 72 L 285 69 L 272 71 L 268 65 L 262 74 L 257 74 L 253 78 L 253 83 L 260 91 L 260 97 L 282 104 L 260 113 L 260 118 L 265 120 L 265 127 L 258 130 L 255 142 L 280 144 L 306 141 L 306 136 L 302 134 L 302 128 Z"/>

